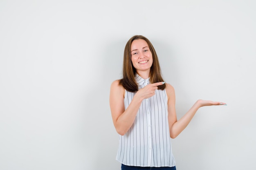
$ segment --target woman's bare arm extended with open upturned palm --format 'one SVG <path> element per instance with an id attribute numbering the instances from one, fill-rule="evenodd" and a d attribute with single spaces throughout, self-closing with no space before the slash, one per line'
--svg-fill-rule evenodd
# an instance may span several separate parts
<path id="1" fill-rule="evenodd" d="M 191 119 L 194 117 L 197 110 L 202 106 L 216 106 L 225 105 L 223 102 L 213 102 L 209 100 L 199 99 L 189 109 L 189 111 L 177 121 L 176 109 L 175 109 L 175 91 L 173 86 L 166 84 L 166 93 L 168 96 L 168 123 L 170 128 L 170 137 L 177 137 L 188 126 Z"/>

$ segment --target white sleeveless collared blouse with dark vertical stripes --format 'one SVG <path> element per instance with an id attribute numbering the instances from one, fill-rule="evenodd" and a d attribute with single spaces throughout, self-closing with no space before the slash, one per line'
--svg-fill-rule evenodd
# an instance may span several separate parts
<path id="1" fill-rule="evenodd" d="M 150 83 L 149 78 L 143 79 L 139 75 L 136 75 L 135 79 L 139 89 Z M 125 91 L 125 109 L 135 93 Z M 153 97 L 142 101 L 131 128 L 125 135 L 119 135 L 117 160 L 128 166 L 175 166 L 165 90 L 156 90 Z"/>

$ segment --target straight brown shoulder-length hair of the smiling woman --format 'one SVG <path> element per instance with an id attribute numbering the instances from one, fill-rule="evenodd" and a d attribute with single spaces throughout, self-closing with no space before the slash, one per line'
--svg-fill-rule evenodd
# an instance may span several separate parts
<path id="1" fill-rule="evenodd" d="M 148 43 L 149 49 L 152 53 L 153 64 L 150 68 L 150 83 L 164 82 L 164 79 L 162 78 L 161 75 L 161 68 L 158 61 L 157 53 L 155 52 L 153 45 L 146 37 L 142 35 L 135 35 L 132 38 L 130 38 L 130 40 L 128 40 L 124 48 L 123 78 L 120 79 L 119 82 L 120 85 L 124 86 L 124 88 L 130 92 L 138 91 L 138 84 L 135 80 L 136 69 L 132 65 L 131 60 L 131 44 L 134 40 L 139 39 L 145 40 Z M 157 88 L 160 90 L 164 90 L 166 88 L 166 84 L 157 86 Z"/>

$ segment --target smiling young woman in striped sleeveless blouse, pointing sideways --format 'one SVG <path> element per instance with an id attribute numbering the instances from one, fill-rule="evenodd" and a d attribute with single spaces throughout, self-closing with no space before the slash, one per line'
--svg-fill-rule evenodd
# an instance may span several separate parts
<path id="1" fill-rule="evenodd" d="M 121 169 L 175 170 L 171 138 L 186 128 L 200 107 L 212 105 L 225 103 L 200 99 L 177 120 L 175 91 L 162 78 L 153 45 L 141 35 L 130 38 L 124 50 L 123 78 L 110 88 Z"/>

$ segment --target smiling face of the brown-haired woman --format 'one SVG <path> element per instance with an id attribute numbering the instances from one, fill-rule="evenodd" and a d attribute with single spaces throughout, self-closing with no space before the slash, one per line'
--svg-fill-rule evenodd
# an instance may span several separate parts
<path id="1" fill-rule="evenodd" d="M 145 40 L 133 40 L 131 44 L 131 60 L 137 73 L 147 71 L 149 74 L 150 67 L 153 64 L 153 57 Z"/>

